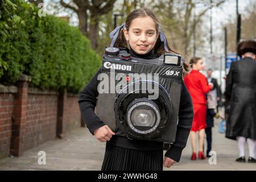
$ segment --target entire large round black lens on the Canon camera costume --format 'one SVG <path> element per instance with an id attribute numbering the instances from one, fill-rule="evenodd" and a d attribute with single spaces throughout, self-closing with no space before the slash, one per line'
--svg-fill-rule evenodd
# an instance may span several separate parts
<path id="1" fill-rule="evenodd" d="M 114 111 L 117 126 L 136 139 L 153 139 L 160 136 L 172 117 L 172 104 L 168 92 L 157 82 L 139 80 L 127 85 L 115 96 Z M 143 84 L 154 84 L 159 89 L 159 97 L 149 98 L 148 89 Z M 135 93 L 134 88 L 139 88 Z"/>

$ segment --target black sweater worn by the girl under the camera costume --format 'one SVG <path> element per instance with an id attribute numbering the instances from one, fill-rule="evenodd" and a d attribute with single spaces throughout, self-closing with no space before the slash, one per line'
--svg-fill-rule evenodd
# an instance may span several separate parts
<path id="1" fill-rule="evenodd" d="M 154 59 L 156 56 L 152 52 L 147 55 L 138 55 L 133 51 L 130 51 L 132 56 L 143 57 L 143 59 Z M 85 86 L 84 90 L 79 93 L 79 106 L 86 126 L 90 133 L 93 134 L 94 130 L 105 125 L 104 122 L 97 117 L 94 113 L 94 109 L 97 104 L 98 90 L 97 86 L 99 80 L 97 76 L 101 73 L 101 69 L 98 70 L 96 75 L 90 80 L 89 84 Z M 179 162 L 181 152 L 187 144 L 189 131 L 191 130 L 193 121 L 193 106 L 190 94 L 182 81 L 181 96 L 180 96 L 180 107 L 179 107 L 179 123 L 177 125 L 176 140 L 171 144 L 170 149 L 166 152 L 165 156 Z M 163 148 L 163 142 L 156 142 L 152 140 L 137 140 L 128 139 L 125 137 L 119 137 L 113 135 L 108 143 L 114 144 L 115 146 L 131 148 L 135 150 L 158 150 Z"/>

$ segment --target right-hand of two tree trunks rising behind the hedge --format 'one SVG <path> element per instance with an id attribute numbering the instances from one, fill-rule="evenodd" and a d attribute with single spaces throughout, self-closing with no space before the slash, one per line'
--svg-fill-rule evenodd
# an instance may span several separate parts
<path id="1" fill-rule="evenodd" d="M 89 35 L 88 38 L 90 40 L 91 47 L 93 49 L 97 48 L 97 37 L 98 37 L 98 23 L 100 21 L 100 17 L 98 15 L 93 16 L 90 19 L 90 27 L 89 27 Z"/>

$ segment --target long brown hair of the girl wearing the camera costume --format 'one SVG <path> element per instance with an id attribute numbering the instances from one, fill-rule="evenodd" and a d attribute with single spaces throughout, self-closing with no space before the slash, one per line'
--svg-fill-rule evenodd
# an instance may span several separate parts
<path id="1" fill-rule="evenodd" d="M 156 28 L 156 32 L 157 34 L 159 34 L 159 21 L 158 18 L 156 17 L 156 15 L 153 13 L 153 11 L 151 11 L 150 9 L 147 8 L 141 8 L 141 9 L 136 9 L 134 11 L 132 11 L 126 18 L 126 22 L 125 22 L 125 28 L 128 31 L 131 21 L 135 18 L 139 18 L 139 17 L 145 17 L 145 16 L 150 16 L 150 18 L 152 18 L 155 22 L 155 28 Z M 169 44 L 168 41 L 166 40 L 166 44 L 167 44 L 167 48 L 168 48 L 168 52 L 170 53 L 176 53 L 176 54 L 180 54 L 176 51 L 174 51 L 174 49 L 172 49 Z M 127 41 L 125 39 L 125 35 L 123 34 L 123 29 L 121 29 L 119 31 L 119 35 L 117 37 L 117 40 L 115 41 L 114 47 L 123 47 L 123 48 L 127 48 L 128 49 L 128 44 Z M 162 55 L 163 53 L 166 53 L 167 51 L 164 50 L 164 43 L 161 42 L 160 40 L 160 36 L 158 36 L 158 39 L 156 40 L 155 43 L 155 47 L 154 47 L 154 54 L 157 56 Z M 189 65 L 187 63 L 183 63 L 183 67 L 185 69 L 185 71 L 189 70 Z"/>

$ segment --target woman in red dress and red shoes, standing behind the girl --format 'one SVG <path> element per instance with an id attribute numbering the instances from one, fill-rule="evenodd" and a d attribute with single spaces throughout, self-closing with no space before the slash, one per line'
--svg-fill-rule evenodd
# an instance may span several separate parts
<path id="1" fill-rule="evenodd" d="M 190 60 L 192 71 L 185 76 L 184 82 L 188 88 L 193 102 L 194 119 L 190 132 L 192 156 L 191 160 L 196 160 L 196 132 L 199 131 L 199 152 L 198 158 L 205 159 L 203 153 L 204 135 L 206 123 L 206 112 L 207 112 L 207 100 L 205 94 L 208 93 L 213 84 L 207 82 L 207 78 L 199 71 L 204 69 L 203 59 L 201 57 L 193 57 Z"/>

